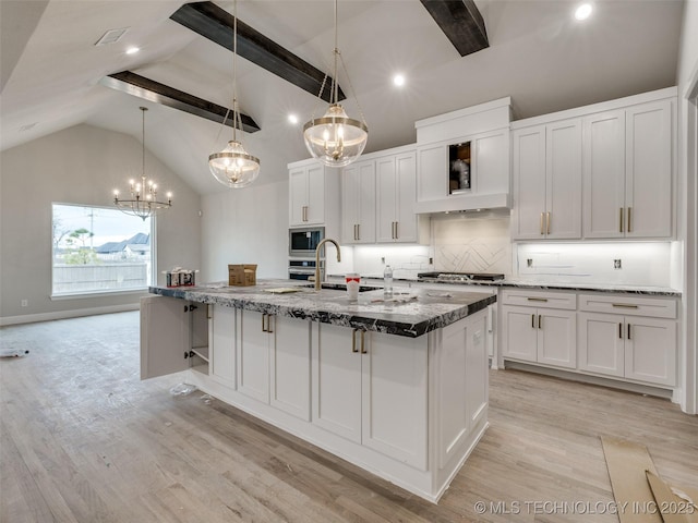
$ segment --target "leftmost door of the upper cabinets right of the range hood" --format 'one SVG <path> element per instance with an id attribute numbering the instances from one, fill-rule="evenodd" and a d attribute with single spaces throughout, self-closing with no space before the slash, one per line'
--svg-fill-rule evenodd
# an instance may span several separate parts
<path id="1" fill-rule="evenodd" d="M 513 238 L 539 240 L 545 233 L 545 126 L 516 130 L 513 139 Z"/>

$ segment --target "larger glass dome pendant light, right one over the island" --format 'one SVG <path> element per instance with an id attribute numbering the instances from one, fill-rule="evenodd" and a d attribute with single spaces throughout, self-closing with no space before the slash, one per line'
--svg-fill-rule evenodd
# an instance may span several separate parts
<path id="1" fill-rule="evenodd" d="M 322 118 L 313 118 L 303 126 L 303 139 L 313 158 L 317 158 L 328 167 L 344 167 L 354 161 L 363 153 L 369 138 L 369 127 L 366 127 L 363 114 L 361 114 L 361 121 L 349 118 L 338 101 L 338 61 L 341 61 L 347 80 L 349 75 L 337 47 L 337 0 L 335 0 L 335 49 L 333 54 L 334 74 L 329 86 L 329 107 Z M 351 81 L 349 81 L 349 87 L 353 94 Z M 324 88 L 325 82 L 320 89 L 321 100 Z M 356 98 L 356 95 L 353 96 Z M 361 108 L 359 108 L 359 112 L 361 112 Z"/>

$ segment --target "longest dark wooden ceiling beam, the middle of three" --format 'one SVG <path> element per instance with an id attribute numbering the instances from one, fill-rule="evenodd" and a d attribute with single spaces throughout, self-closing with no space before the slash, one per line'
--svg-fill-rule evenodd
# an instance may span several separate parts
<path id="1" fill-rule="evenodd" d="M 232 51 L 234 16 L 213 2 L 185 3 L 171 20 Z M 325 73 L 238 19 L 238 56 L 306 90 L 320 94 Z M 329 101 L 332 77 L 327 76 L 322 98 Z M 346 98 L 339 89 L 339 100 Z M 338 101 L 339 101 L 338 100 Z"/>

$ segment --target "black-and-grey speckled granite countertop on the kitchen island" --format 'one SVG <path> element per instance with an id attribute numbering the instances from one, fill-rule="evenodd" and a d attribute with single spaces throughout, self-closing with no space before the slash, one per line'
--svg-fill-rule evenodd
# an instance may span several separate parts
<path id="1" fill-rule="evenodd" d="M 394 301 L 383 291 L 359 293 L 350 302 L 346 291 L 304 287 L 296 280 L 257 280 L 254 287 L 208 283 L 197 287 L 151 287 L 153 294 L 225 305 L 260 313 L 417 338 L 454 324 L 496 302 L 495 295 L 435 289 L 396 289 Z M 298 292 L 270 292 L 300 289 Z"/>

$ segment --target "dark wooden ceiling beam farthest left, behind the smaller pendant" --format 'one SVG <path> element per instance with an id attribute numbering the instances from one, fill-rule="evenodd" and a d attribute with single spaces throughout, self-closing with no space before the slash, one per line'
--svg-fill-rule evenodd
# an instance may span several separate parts
<path id="1" fill-rule="evenodd" d="M 128 93 L 129 95 L 137 96 L 155 104 L 172 107 L 217 123 L 221 123 L 225 119 L 226 125 L 230 127 L 233 126 L 232 109 L 204 100 L 203 98 L 197 98 L 194 95 L 160 84 L 159 82 L 146 78 L 131 71 L 122 71 L 104 76 L 99 83 L 105 87 Z M 226 115 L 228 118 L 226 118 Z M 242 120 L 242 130 L 245 133 L 260 131 L 256 122 L 246 114 L 240 113 L 240 120 Z"/>

